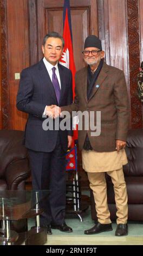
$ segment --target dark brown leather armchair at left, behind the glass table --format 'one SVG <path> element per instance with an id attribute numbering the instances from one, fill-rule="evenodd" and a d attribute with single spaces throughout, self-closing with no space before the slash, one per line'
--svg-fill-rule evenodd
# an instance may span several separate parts
<path id="1" fill-rule="evenodd" d="M 27 149 L 23 145 L 23 131 L 0 130 L 0 190 L 24 190 L 30 176 Z M 27 230 L 27 220 L 11 223 L 16 231 Z"/>

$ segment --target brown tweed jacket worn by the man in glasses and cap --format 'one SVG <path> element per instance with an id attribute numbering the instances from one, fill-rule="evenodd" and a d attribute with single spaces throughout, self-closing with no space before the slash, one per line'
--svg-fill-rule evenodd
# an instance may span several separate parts
<path id="1" fill-rule="evenodd" d="M 87 67 L 76 72 L 75 99 L 69 106 L 61 107 L 61 111 L 94 111 L 96 126 L 96 111 L 101 111 L 101 133 L 91 136 L 92 130 L 85 129 L 82 118 L 82 130 L 79 130 L 79 149 L 83 148 L 88 133 L 90 144 L 95 151 L 114 151 L 116 139 L 126 141 L 129 126 L 129 100 L 124 72 L 106 63 L 100 71 L 94 84 L 92 94 L 87 100 Z M 91 118 L 89 118 L 90 121 Z"/>

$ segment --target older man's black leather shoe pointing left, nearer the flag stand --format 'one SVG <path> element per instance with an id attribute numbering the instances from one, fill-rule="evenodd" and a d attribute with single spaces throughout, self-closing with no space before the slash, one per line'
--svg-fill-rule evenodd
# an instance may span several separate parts
<path id="1" fill-rule="evenodd" d="M 92 235 L 92 234 L 98 234 L 98 233 L 101 233 L 101 232 L 112 231 L 112 230 L 113 230 L 113 228 L 112 228 L 111 223 L 101 224 L 101 223 L 98 222 L 97 224 L 94 225 L 93 228 L 85 230 L 85 234 L 86 235 Z"/>

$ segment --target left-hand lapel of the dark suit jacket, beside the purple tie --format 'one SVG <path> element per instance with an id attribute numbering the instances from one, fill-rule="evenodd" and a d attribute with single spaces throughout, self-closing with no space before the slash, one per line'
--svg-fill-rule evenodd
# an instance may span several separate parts
<path id="1" fill-rule="evenodd" d="M 55 89 L 54 89 L 53 84 L 50 80 L 50 76 L 48 74 L 46 66 L 44 65 L 43 59 L 39 62 L 39 70 L 40 70 L 40 76 L 41 76 L 42 83 L 45 84 L 49 88 L 49 92 L 50 92 L 51 97 L 53 97 L 53 99 L 57 101 L 56 94 L 55 94 Z"/>

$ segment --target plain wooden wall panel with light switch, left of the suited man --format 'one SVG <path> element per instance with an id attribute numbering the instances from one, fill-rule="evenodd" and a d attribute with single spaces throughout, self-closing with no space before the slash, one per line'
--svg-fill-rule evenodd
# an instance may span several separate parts
<path id="1" fill-rule="evenodd" d="M 15 73 L 29 66 L 28 7 L 27 0 L 7 0 L 8 24 L 8 76 L 9 76 L 9 128 L 23 130 L 27 114 L 17 111 L 16 95 L 19 80 Z"/>

